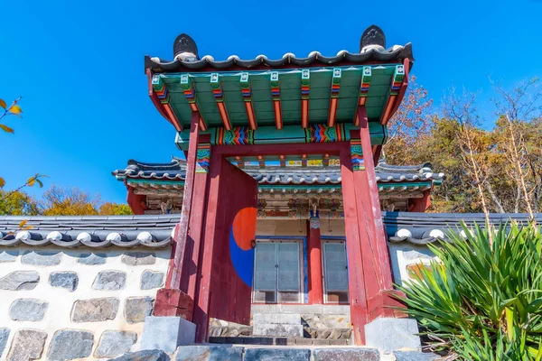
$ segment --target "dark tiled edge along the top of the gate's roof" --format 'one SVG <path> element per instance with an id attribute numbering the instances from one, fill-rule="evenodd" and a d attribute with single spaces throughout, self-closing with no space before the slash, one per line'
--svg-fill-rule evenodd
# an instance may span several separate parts
<path id="1" fill-rule="evenodd" d="M 237 55 L 231 55 L 227 60 L 215 60 L 210 55 L 205 55 L 201 60 L 164 60 L 160 58 L 151 58 L 145 55 L 145 69 L 151 69 L 155 72 L 182 72 L 193 71 L 205 68 L 214 68 L 217 70 L 227 70 L 232 68 L 252 69 L 258 66 L 264 66 L 269 69 L 285 68 L 288 65 L 305 67 L 309 65 L 340 66 L 367 64 L 369 61 L 383 62 L 401 62 L 405 59 L 414 60 L 412 54 L 412 45 L 407 43 L 405 46 L 394 45 L 388 49 L 375 47 L 363 52 L 352 53 L 350 51 L 339 51 L 334 56 L 324 56 L 319 51 L 312 51 L 307 57 L 296 57 L 293 53 L 287 52 L 281 59 L 270 60 L 266 55 L 258 55 L 255 59 L 241 60 Z"/>

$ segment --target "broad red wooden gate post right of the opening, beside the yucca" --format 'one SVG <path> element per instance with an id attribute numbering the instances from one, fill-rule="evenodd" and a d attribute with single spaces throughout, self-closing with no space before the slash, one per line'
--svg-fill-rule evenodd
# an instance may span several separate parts
<path id="1" fill-rule="evenodd" d="M 350 133 L 350 149 L 341 149 L 341 184 L 349 268 L 350 319 L 357 345 L 365 325 L 378 317 L 397 317 L 391 265 L 380 211 L 365 106 L 358 111 L 360 132 Z"/>

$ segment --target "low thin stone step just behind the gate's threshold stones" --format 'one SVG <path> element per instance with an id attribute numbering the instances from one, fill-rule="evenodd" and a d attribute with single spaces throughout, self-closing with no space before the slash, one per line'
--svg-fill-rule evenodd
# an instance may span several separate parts
<path id="1" fill-rule="evenodd" d="M 348 339 L 317 339 L 317 338 L 266 338 L 266 337 L 210 337 L 211 344 L 232 345 L 268 345 L 268 346 L 347 346 Z"/>

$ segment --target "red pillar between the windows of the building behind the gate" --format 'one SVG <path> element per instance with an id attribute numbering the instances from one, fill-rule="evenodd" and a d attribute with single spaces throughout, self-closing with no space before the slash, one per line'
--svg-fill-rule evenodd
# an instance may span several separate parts
<path id="1" fill-rule="evenodd" d="M 308 236 L 309 303 L 322 304 L 322 240 L 320 239 L 320 218 L 318 217 L 318 211 L 311 211 Z"/>

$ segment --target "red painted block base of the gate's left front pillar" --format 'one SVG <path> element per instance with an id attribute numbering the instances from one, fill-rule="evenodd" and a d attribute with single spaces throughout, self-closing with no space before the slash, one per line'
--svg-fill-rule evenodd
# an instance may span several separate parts
<path id="1" fill-rule="evenodd" d="M 194 301 L 181 290 L 163 288 L 156 292 L 154 316 L 181 316 L 192 321 Z"/>

